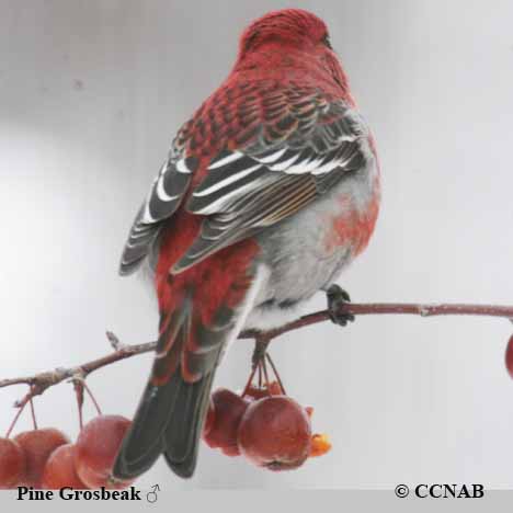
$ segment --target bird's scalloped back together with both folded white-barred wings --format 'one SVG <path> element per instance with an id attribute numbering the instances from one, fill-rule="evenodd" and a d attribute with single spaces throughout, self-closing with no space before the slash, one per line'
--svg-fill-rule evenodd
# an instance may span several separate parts
<path id="1" fill-rule="evenodd" d="M 182 207 L 204 220 L 174 273 L 289 217 L 361 169 L 367 137 L 351 105 L 315 88 L 218 91 L 174 139 L 132 226 L 121 274 L 139 266 L 185 198 Z"/>

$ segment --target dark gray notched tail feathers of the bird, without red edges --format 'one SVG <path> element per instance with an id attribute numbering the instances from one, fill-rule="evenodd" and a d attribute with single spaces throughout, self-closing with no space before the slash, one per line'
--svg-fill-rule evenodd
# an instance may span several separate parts
<path id="1" fill-rule="evenodd" d="M 189 384 L 180 369 L 162 386 L 148 384 L 114 464 L 114 477 L 133 479 L 163 453 L 171 469 L 191 477 L 208 408 L 214 371 Z"/>

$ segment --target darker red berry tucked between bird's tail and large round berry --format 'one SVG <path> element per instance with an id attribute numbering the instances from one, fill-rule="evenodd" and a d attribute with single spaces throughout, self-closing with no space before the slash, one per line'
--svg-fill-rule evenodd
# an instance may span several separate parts
<path id="1" fill-rule="evenodd" d="M 203 440 L 212 448 L 220 448 L 227 456 L 238 456 L 237 431 L 249 402 L 227 388 L 218 388 L 212 395 L 212 420 Z"/>

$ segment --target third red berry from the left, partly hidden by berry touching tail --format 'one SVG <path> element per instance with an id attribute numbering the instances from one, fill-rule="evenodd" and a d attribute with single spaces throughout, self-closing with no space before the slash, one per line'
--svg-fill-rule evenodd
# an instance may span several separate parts
<path id="1" fill-rule="evenodd" d="M 78 477 L 75 469 L 75 445 L 66 444 L 57 447 L 46 461 L 41 480 L 41 488 L 59 490 L 71 487 L 76 490 L 84 490 L 88 487 Z"/>

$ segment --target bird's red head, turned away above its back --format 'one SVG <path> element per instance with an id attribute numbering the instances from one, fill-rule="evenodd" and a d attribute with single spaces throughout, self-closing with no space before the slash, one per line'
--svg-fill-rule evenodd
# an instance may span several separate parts
<path id="1" fill-rule="evenodd" d="M 331 47 L 328 27 L 311 12 L 269 12 L 253 21 L 240 37 L 236 69 L 278 72 L 285 67 L 316 70 L 349 94 L 347 78 Z"/>

